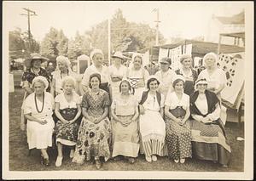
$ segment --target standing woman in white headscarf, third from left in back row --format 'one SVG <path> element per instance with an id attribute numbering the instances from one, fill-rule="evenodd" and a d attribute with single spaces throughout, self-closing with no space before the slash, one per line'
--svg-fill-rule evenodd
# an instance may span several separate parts
<path id="1" fill-rule="evenodd" d="M 82 79 L 82 89 L 83 92 L 86 92 L 89 88 L 90 81 L 89 77 L 91 74 L 98 73 L 101 75 L 101 84 L 100 88 L 110 93 L 110 84 L 109 84 L 109 74 L 108 67 L 103 65 L 104 56 L 101 49 L 94 49 L 90 53 L 90 59 L 92 60 L 92 65 L 90 65 L 85 71 Z M 84 93 L 82 93 L 84 94 Z"/>

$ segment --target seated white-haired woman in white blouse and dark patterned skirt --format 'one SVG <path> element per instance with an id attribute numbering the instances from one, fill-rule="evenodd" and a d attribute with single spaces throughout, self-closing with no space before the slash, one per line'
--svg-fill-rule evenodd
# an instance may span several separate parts
<path id="1" fill-rule="evenodd" d="M 76 80 L 72 76 L 65 76 L 61 82 L 61 88 L 64 93 L 55 97 L 55 116 L 57 123 L 55 126 L 56 143 L 58 147 L 58 156 L 55 162 L 56 167 L 61 167 L 62 147 L 75 146 L 79 133 L 79 116 L 81 115 L 81 100 L 74 88 Z M 70 157 L 73 158 L 74 148 L 70 151 Z"/>

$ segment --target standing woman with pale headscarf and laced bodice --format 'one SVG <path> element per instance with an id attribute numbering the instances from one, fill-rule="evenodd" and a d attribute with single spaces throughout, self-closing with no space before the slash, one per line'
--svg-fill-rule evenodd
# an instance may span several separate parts
<path id="1" fill-rule="evenodd" d="M 129 66 L 126 77 L 134 88 L 134 95 L 139 99 L 142 96 L 148 80 L 148 71 L 143 67 L 143 57 L 141 54 L 132 54 L 131 66 Z"/>

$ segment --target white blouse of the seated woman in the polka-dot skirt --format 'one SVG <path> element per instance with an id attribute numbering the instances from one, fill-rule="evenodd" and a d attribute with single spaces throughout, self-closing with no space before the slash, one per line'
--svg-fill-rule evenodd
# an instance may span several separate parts
<path id="1" fill-rule="evenodd" d="M 169 92 L 166 97 L 166 105 L 170 107 L 170 110 L 175 109 L 177 106 L 182 106 L 184 110 L 187 110 L 189 107 L 189 95 L 183 93 L 182 98 L 178 99 L 175 92 Z"/>

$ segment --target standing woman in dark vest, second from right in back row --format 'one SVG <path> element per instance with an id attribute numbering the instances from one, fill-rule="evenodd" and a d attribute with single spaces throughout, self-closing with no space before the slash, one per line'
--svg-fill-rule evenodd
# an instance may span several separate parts
<path id="1" fill-rule="evenodd" d="M 192 58 L 189 54 L 182 54 L 180 57 L 182 68 L 175 71 L 177 75 L 182 75 L 185 78 L 184 93 L 191 95 L 194 93 L 195 81 L 197 80 L 197 73 L 192 69 Z"/>

